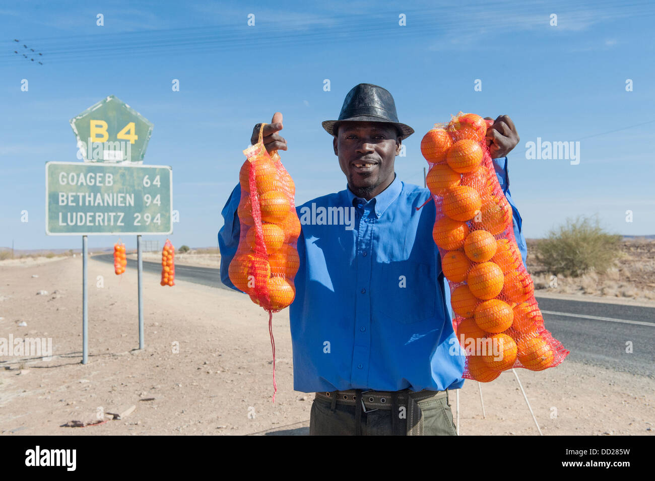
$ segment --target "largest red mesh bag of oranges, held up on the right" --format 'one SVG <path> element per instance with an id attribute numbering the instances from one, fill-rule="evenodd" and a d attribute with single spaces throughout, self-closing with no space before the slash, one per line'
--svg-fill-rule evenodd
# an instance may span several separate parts
<path id="1" fill-rule="evenodd" d="M 485 141 L 491 122 L 458 114 L 421 141 L 436 204 L 432 237 L 451 289 L 453 329 L 466 353 L 464 378 L 495 380 L 511 368 L 544 370 L 569 354 L 544 328 Z"/>

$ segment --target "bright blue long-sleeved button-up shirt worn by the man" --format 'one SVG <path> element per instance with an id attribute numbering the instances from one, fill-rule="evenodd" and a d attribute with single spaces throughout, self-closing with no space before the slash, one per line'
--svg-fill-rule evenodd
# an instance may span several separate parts
<path id="1" fill-rule="evenodd" d="M 509 192 L 507 158 L 494 160 L 512 205 L 523 262 L 521 217 Z M 296 207 L 300 267 L 290 306 L 293 387 L 414 391 L 462 386 L 464 356 L 453 333 L 450 289 L 432 240 L 430 191 L 396 177 L 367 201 L 347 188 Z M 221 280 L 238 245 L 237 185 L 223 208 Z M 351 217 L 352 216 L 352 217 Z M 238 290 L 238 289 L 236 289 Z"/>

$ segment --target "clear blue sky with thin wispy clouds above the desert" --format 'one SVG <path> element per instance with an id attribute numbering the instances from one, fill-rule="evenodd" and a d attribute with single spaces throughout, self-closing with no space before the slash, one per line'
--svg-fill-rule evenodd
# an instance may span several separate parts
<path id="1" fill-rule="evenodd" d="M 337 118 L 360 82 L 390 90 L 416 131 L 396 158 L 403 181 L 422 185 L 419 145 L 435 122 L 458 111 L 507 114 L 521 136 L 509 156 L 510 190 L 527 238 L 580 214 L 597 214 L 611 232 L 655 234 L 654 17 L 646 1 L 3 3 L 0 246 L 81 245 L 45 235 L 44 164 L 77 160 L 68 121 L 109 94 L 155 125 L 145 163 L 173 168 L 180 221 L 172 242 L 209 246 L 252 127 L 275 111 L 284 115 L 282 161 L 296 202 L 345 188 L 320 122 Z M 13 39 L 43 52 L 43 65 L 14 54 Z M 580 141 L 580 163 L 527 159 L 537 137 Z M 89 238 L 91 247 L 114 241 Z"/>

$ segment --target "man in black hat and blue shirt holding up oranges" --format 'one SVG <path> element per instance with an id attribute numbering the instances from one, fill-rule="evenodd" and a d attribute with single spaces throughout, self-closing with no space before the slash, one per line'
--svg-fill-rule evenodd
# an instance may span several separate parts
<path id="1" fill-rule="evenodd" d="M 259 126 L 251 143 L 257 142 Z M 396 178 L 394 160 L 414 130 L 400 122 L 391 94 L 359 84 L 338 120 L 323 122 L 348 181 L 346 189 L 297 207 L 300 268 L 290 306 L 294 389 L 316 393 L 312 435 L 455 435 L 448 389 L 462 387 L 449 311 L 450 291 L 432 240 L 430 191 Z M 267 150 L 286 150 L 282 114 L 264 127 Z M 487 131 L 498 180 L 512 205 L 525 262 L 521 217 L 508 190 L 506 154 L 519 137 L 499 116 Z M 237 185 L 223 208 L 221 279 L 238 245 Z M 353 228 L 313 222 L 307 209 L 354 211 Z M 305 213 L 303 217 L 303 213 Z"/>

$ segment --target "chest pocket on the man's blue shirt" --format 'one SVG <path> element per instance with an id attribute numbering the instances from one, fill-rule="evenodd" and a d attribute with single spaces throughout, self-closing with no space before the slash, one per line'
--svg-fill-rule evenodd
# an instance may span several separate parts
<path id="1" fill-rule="evenodd" d="M 411 260 L 384 262 L 378 280 L 377 315 L 400 324 L 434 317 L 436 280 L 432 266 Z"/>

